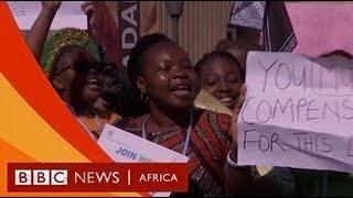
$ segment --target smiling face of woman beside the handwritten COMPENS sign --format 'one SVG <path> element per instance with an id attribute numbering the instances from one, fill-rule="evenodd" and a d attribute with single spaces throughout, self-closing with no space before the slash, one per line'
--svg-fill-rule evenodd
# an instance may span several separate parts
<path id="1" fill-rule="evenodd" d="M 242 77 L 236 65 L 218 57 L 212 58 L 203 65 L 200 81 L 202 88 L 231 110 L 234 109 L 242 87 Z"/>

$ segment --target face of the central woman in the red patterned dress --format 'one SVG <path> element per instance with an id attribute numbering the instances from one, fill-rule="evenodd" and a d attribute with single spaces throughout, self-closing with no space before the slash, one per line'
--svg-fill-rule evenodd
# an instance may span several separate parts
<path id="1" fill-rule="evenodd" d="M 149 102 L 170 110 L 185 111 L 200 91 L 189 55 L 174 43 L 159 43 L 145 54 L 140 91 Z"/>

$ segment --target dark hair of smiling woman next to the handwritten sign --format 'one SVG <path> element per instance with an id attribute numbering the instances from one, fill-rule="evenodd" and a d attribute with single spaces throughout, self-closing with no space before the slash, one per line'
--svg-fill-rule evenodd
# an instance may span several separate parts
<path id="1" fill-rule="evenodd" d="M 234 65 L 236 68 L 238 68 L 240 73 L 242 82 L 245 81 L 245 72 L 240 67 L 239 62 L 231 54 L 225 51 L 213 51 L 212 53 L 205 54 L 195 65 L 195 72 L 197 75 L 200 75 L 200 72 L 202 67 L 212 61 L 213 58 L 222 58 Z"/>

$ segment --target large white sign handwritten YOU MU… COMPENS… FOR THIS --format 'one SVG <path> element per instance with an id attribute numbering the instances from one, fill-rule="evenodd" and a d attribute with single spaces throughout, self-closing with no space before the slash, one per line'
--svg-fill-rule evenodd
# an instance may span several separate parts
<path id="1" fill-rule="evenodd" d="M 353 172 L 353 64 L 250 52 L 238 163 Z"/>

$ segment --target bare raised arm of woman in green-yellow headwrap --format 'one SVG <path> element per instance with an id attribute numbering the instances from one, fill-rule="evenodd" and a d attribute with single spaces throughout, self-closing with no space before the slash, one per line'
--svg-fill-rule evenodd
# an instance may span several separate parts
<path id="1" fill-rule="evenodd" d="M 61 1 L 42 1 L 42 11 L 32 25 L 30 33 L 25 37 L 28 46 L 39 63 L 41 62 L 41 55 L 47 32 L 60 6 Z"/>

